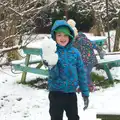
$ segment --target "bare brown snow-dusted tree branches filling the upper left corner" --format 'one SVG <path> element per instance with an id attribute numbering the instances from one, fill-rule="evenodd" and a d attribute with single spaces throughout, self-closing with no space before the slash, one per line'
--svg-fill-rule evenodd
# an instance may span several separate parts
<path id="1" fill-rule="evenodd" d="M 7 52 L 9 58 L 13 54 L 9 51 L 21 48 L 22 36 L 31 36 L 36 27 L 34 22 L 37 16 L 56 1 L 48 3 L 47 0 L 0 0 L 0 55 Z M 29 42 L 26 40 L 23 46 Z M 17 55 L 15 59 L 20 59 Z"/>

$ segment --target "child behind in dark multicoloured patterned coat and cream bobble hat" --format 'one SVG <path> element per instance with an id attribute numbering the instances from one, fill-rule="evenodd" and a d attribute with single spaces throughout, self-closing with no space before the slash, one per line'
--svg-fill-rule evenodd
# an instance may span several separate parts
<path id="1" fill-rule="evenodd" d="M 72 19 L 69 19 L 68 24 L 72 27 L 72 28 L 76 28 L 76 22 Z M 100 47 L 98 47 L 95 43 L 92 43 L 85 34 L 83 34 L 82 32 L 77 31 L 77 29 L 75 29 L 75 41 L 74 41 L 74 47 L 76 47 L 81 55 L 82 55 L 82 59 L 85 65 L 85 71 L 87 73 L 87 81 L 88 81 L 88 86 L 91 92 L 95 91 L 95 86 L 92 83 L 92 79 L 91 79 L 91 71 L 92 68 L 98 64 L 96 55 L 94 53 L 94 49 L 96 49 L 99 53 L 100 58 L 102 59 L 104 54 L 102 52 L 102 49 Z"/>

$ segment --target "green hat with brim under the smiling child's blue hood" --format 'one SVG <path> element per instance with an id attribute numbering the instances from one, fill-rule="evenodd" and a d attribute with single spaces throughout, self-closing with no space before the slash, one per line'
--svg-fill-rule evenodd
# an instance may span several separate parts
<path id="1" fill-rule="evenodd" d="M 62 33 L 64 33 L 65 35 L 69 36 L 71 39 L 73 39 L 73 36 L 71 35 L 69 28 L 66 27 L 66 26 L 58 27 L 58 28 L 55 30 L 55 32 L 56 32 L 56 33 L 62 32 Z"/>

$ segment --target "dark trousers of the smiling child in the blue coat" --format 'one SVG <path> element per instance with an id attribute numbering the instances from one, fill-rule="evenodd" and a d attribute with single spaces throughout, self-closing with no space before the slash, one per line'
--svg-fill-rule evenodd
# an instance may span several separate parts
<path id="1" fill-rule="evenodd" d="M 63 120 L 64 111 L 68 120 L 79 120 L 76 93 L 52 91 L 49 93 L 49 100 L 51 120 Z"/>

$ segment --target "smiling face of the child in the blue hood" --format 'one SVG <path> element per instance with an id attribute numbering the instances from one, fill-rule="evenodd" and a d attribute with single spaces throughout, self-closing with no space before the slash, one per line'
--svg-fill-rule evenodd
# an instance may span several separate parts
<path id="1" fill-rule="evenodd" d="M 69 43 L 69 36 L 62 32 L 56 33 L 56 42 L 61 46 L 66 46 Z"/>

